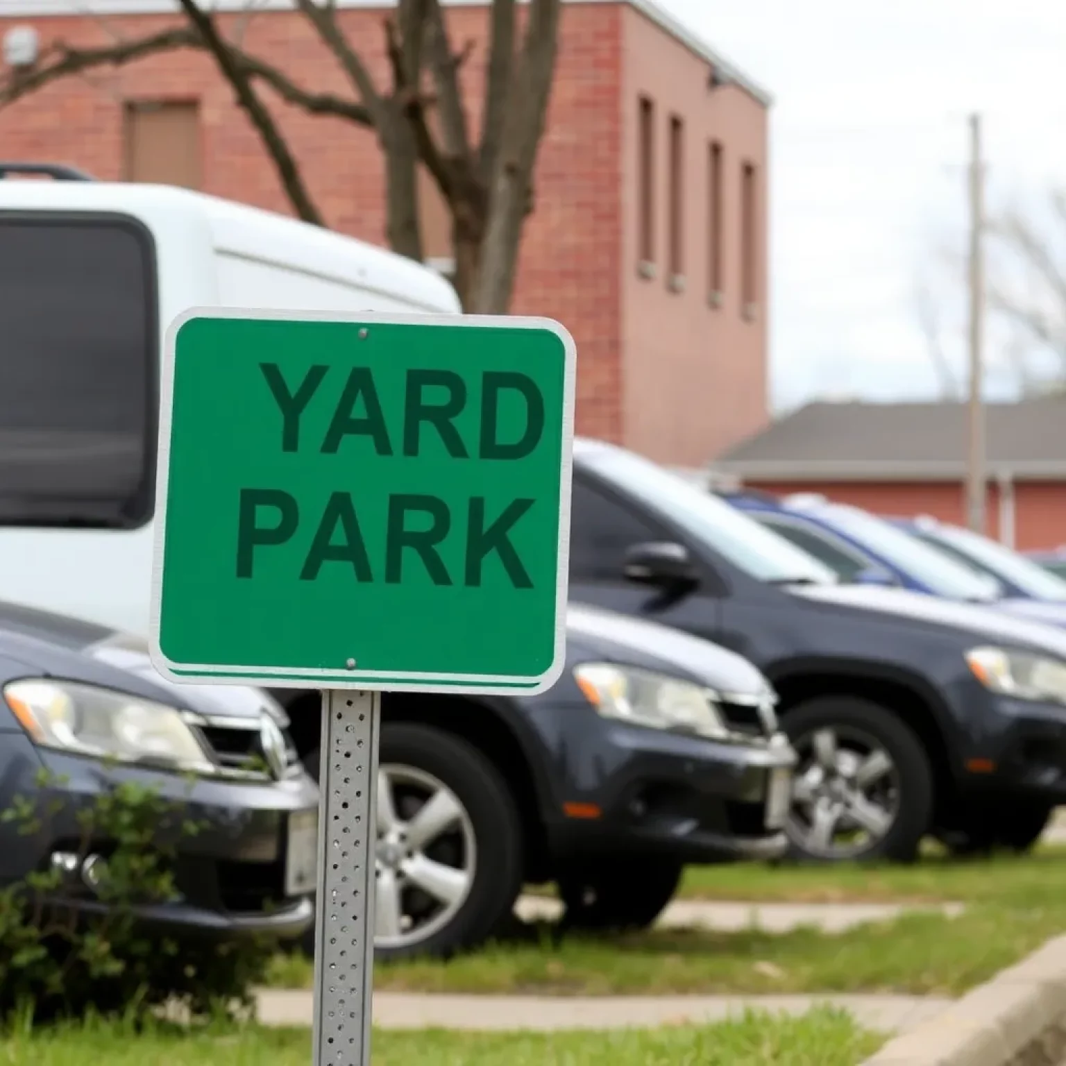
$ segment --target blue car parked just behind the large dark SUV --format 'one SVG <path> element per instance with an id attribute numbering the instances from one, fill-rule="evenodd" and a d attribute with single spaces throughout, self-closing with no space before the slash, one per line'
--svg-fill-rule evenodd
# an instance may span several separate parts
<path id="1" fill-rule="evenodd" d="M 1066 601 L 1021 596 L 999 578 L 979 572 L 942 548 L 860 507 L 813 494 L 784 499 L 743 491 L 724 496 L 827 565 L 845 583 L 897 585 L 1066 626 Z"/>

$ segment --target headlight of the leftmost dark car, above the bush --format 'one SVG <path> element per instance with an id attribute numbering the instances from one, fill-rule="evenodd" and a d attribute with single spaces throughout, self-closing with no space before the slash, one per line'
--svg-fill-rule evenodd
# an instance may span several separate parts
<path id="1" fill-rule="evenodd" d="M 15 717 L 42 747 L 213 774 L 181 712 L 112 689 L 33 678 L 4 685 Z"/>

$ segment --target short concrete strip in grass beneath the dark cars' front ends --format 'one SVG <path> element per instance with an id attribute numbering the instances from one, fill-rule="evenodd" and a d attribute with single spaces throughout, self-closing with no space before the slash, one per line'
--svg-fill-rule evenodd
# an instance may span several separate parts
<path id="1" fill-rule="evenodd" d="M 843 933 L 867 922 L 884 922 L 915 910 L 939 911 L 949 918 L 963 912 L 960 903 L 915 907 L 897 903 L 744 903 L 678 900 L 656 923 L 657 928 L 704 928 L 740 933 L 757 928 L 765 933 L 791 933 L 813 926 L 823 933 Z M 558 900 L 523 895 L 515 907 L 523 921 L 554 921 L 562 912 Z"/>

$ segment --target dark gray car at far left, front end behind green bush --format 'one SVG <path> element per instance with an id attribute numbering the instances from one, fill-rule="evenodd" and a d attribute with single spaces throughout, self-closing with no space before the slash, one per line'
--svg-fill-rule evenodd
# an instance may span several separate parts
<path id="1" fill-rule="evenodd" d="M 309 926 L 318 788 L 272 697 L 179 688 L 134 639 L 6 603 L 0 692 L 0 810 L 19 796 L 55 810 L 30 835 L 0 823 L 0 887 L 59 868 L 77 904 L 98 907 L 107 841 L 87 853 L 72 845 L 79 812 L 110 785 L 135 780 L 187 804 L 200 826 L 178 844 L 178 897 L 143 908 L 143 920 L 223 937 L 290 938 Z"/>

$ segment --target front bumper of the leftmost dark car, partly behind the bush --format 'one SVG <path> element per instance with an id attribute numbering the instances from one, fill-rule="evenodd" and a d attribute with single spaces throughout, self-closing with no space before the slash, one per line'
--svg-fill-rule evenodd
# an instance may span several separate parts
<path id="1" fill-rule="evenodd" d="M 106 768 L 92 759 L 39 753 L 54 784 L 22 790 L 41 809 L 55 813 L 27 839 L 22 873 L 76 856 L 107 857 L 107 834 L 86 846 L 79 819 L 93 810 L 110 786 L 132 781 L 178 804 L 181 818 L 160 826 L 157 843 L 173 858 L 167 866 L 174 900 L 136 908 L 139 919 L 176 932 L 217 937 L 298 937 L 313 921 L 318 789 L 298 772 L 278 781 L 187 779 L 132 768 Z M 39 769 L 39 768 L 38 768 Z M 195 823 L 195 835 L 179 823 Z M 313 834 L 313 843 L 311 835 Z M 291 855 L 290 855 L 291 852 Z M 302 859 L 302 860 L 301 860 Z M 294 867 L 302 876 L 295 876 Z M 64 901 L 84 914 L 103 909 L 81 867 L 71 869 Z"/>

